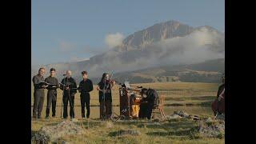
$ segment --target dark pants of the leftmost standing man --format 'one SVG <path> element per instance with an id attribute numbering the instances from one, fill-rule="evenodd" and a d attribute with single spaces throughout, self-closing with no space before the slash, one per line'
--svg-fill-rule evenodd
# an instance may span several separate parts
<path id="1" fill-rule="evenodd" d="M 45 98 L 44 90 L 34 90 L 34 106 L 33 106 L 33 117 L 41 117 L 43 101 Z"/>

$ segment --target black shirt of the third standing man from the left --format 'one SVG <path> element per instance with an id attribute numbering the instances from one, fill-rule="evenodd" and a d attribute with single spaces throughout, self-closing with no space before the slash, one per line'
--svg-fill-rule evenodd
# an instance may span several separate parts
<path id="1" fill-rule="evenodd" d="M 63 78 L 62 79 L 62 84 L 66 85 L 67 83 L 70 83 L 69 87 L 70 87 L 70 95 L 74 96 L 74 94 L 77 93 L 77 90 L 74 88 L 77 88 L 77 83 L 75 82 L 74 78 Z M 60 86 L 61 90 L 64 90 L 64 94 L 68 94 L 69 90 L 65 90 L 65 88 L 63 88 L 63 86 Z"/>

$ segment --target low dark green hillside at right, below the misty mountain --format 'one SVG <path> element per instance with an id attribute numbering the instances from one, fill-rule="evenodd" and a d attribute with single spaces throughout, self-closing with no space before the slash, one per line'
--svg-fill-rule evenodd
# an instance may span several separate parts
<path id="1" fill-rule="evenodd" d="M 131 83 L 146 82 L 220 82 L 225 72 L 225 59 L 214 59 L 191 65 L 158 66 L 145 70 L 136 70 L 114 74 L 118 82 L 128 80 Z M 93 78 L 98 82 L 99 78 Z"/>

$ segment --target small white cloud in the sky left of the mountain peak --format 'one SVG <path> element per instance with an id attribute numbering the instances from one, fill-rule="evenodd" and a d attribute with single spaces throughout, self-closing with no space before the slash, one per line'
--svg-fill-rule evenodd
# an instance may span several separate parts
<path id="1" fill-rule="evenodd" d="M 115 46 L 121 45 L 122 40 L 124 38 L 125 38 L 125 36 L 121 33 L 107 34 L 106 38 L 105 38 L 105 42 L 109 48 L 113 48 Z"/>

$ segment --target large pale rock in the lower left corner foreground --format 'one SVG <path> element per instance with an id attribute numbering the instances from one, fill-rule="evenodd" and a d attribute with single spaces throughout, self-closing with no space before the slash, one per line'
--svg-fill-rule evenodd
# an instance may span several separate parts
<path id="1" fill-rule="evenodd" d="M 64 120 L 55 126 L 42 126 L 42 128 L 34 134 L 32 141 L 50 143 L 57 142 L 58 138 L 65 135 L 84 134 L 85 130 L 72 121 Z"/>

